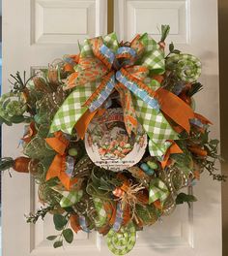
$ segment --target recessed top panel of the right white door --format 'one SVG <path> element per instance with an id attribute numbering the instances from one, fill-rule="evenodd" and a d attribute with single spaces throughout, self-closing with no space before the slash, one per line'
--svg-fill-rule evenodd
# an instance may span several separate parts
<path id="1" fill-rule="evenodd" d="M 170 40 L 187 43 L 189 3 L 185 0 L 119 1 L 117 9 L 120 17 L 116 19 L 120 24 L 119 33 L 126 40 L 131 35 L 147 31 L 158 40 L 160 25 L 168 23 L 171 26 Z"/>

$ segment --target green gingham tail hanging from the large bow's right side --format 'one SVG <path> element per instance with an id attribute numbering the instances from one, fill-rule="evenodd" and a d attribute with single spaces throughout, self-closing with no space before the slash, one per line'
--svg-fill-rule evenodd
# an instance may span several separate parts
<path id="1" fill-rule="evenodd" d="M 165 144 L 166 140 L 177 140 L 178 134 L 161 112 L 152 109 L 139 98 L 132 97 L 132 99 L 138 120 L 152 141 L 150 143 L 151 155 L 162 156 L 165 149 L 169 147 Z"/>

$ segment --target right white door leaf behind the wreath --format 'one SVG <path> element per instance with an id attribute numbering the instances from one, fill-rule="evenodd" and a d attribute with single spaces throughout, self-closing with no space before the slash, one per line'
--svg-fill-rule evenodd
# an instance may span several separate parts
<path id="1" fill-rule="evenodd" d="M 219 138 L 216 0 L 119 0 L 115 8 L 116 31 L 122 39 L 148 32 L 159 40 L 160 25 L 170 24 L 167 43 L 173 41 L 176 48 L 201 58 L 204 91 L 195 97 L 197 112 L 214 122 L 212 136 Z M 193 190 L 198 198 L 193 208 L 179 207 L 162 223 L 139 232 L 130 255 L 221 255 L 220 184 L 205 173 Z"/>

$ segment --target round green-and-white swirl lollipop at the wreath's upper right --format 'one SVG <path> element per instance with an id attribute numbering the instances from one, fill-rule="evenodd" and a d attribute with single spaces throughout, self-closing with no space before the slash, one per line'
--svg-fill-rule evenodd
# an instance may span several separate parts
<path id="1" fill-rule="evenodd" d="M 166 68 L 176 73 L 176 76 L 183 81 L 193 82 L 201 75 L 200 60 L 190 54 L 175 54 L 166 61 Z"/>

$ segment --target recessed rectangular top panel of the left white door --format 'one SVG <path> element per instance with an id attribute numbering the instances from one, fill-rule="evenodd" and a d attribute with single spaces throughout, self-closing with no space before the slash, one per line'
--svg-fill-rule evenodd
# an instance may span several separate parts
<path id="1" fill-rule="evenodd" d="M 74 44 L 92 37 L 96 34 L 99 12 L 96 1 L 33 0 L 32 43 Z"/>

